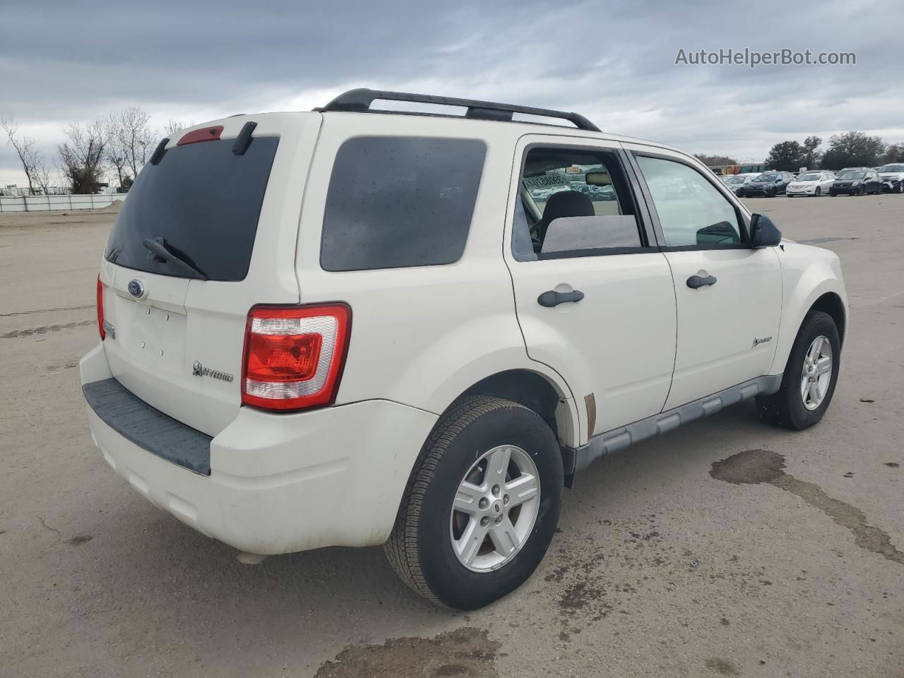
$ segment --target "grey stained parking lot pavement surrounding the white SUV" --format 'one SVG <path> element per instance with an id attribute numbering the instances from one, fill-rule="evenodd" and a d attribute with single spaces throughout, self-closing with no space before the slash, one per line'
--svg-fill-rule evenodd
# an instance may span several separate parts
<path id="1" fill-rule="evenodd" d="M 469 614 L 380 549 L 241 565 L 132 491 L 77 367 L 114 215 L 0 214 L 0 675 L 904 676 L 904 195 L 748 204 L 842 258 L 824 421 L 744 404 L 599 461 L 540 570 Z"/>

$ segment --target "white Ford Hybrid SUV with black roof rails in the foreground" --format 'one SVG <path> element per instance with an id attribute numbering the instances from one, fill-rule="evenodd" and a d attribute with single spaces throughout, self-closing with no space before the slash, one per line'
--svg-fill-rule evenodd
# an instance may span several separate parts
<path id="1" fill-rule="evenodd" d="M 847 318 L 838 258 L 692 155 L 369 89 L 161 141 L 97 292 L 91 434 L 139 493 L 244 560 L 385 544 L 458 608 L 594 459 L 754 396 L 815 424 Z"/>

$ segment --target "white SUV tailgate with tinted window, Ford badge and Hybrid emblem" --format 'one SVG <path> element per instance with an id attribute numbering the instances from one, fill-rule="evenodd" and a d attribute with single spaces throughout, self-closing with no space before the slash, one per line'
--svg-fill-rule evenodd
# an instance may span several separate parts
<path id="1" fill-rule="evenodd" d="M 298 302 L 298 217 L 320 119 L 237 116 L 184 130 L 138 175 L 110 233 L 100 268 L 110 370 L 209 436 L 240 407 L 250 307 Z M 179 143 L 198 129 L 214 132 Z"/>

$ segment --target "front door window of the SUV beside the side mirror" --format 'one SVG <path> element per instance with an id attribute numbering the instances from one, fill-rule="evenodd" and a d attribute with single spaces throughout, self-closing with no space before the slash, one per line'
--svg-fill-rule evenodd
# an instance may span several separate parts
<path id="1" fill-rule="evenodd" d="M 637 156 L 663 229 L 667 247 L 738 245 L 734 205 L 688 165 Z"/>

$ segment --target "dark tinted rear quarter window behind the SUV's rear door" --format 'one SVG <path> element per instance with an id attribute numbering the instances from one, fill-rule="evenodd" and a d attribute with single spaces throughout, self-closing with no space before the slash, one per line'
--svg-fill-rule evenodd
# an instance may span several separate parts
<path id="1" fill-rule="evenodd" d="M 326 194 L 321 267 L 436 266 L 460 259 L 485 155 L 477 139 L 346 141 Z"/>

